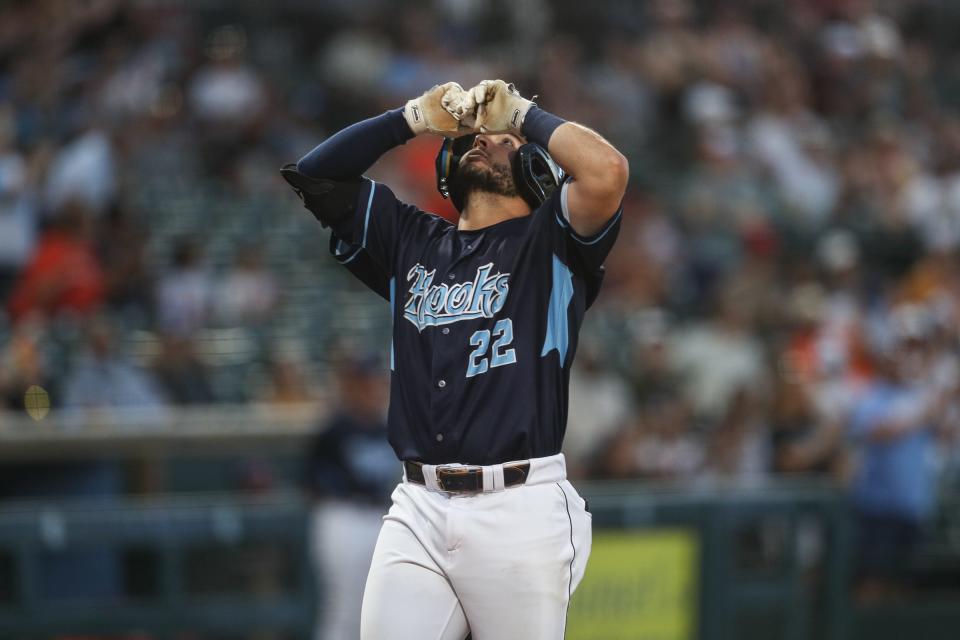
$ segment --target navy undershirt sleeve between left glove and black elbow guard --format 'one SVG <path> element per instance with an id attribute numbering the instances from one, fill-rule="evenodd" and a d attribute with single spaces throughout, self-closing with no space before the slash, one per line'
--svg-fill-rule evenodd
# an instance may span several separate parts
<path id="1" fill-rule="evenodd" d="M 384 153 L 411 138 L 403 107 L 393 109 L 335 133 L 300 158 L 297 169 L 313 178 L 357 178 Z"/>

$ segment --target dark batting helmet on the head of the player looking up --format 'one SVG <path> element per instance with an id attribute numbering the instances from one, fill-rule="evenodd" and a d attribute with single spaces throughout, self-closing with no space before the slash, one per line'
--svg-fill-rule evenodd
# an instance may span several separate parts
<path id="1" fill-rule="evenodd" d="M 457 169 L 476 137 L 444 138 L 437 153 L 437 190 L 444 198 L 450 198 L 458 211 L 463 209 L 463 194 L 457 189 Z M 563 171 L 546 149 L 527 142 L 520 145 L 513 158 L 513 181 L 520 196 L 531 209 L 536 209 L 563 182 Z"/>

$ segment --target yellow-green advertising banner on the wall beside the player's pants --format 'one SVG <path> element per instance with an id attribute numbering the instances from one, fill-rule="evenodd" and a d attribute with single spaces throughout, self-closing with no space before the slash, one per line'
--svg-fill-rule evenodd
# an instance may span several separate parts
<path id="1" fill-rule="evenodd" d="M 569 640 L 694 640 L 699 544 L 686 529 L 595 532 Z"/>

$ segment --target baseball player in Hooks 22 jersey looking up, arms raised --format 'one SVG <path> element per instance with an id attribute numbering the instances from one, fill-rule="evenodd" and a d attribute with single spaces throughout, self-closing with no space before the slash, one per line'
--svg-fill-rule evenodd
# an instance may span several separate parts
<path id="1" fill-rule="evenodd" d="M 445 139 L 457 224 L 361 177 Z M 560 453 L 584 311 L 619 229 L 626 159 L 502 80 L 438 85 L 282 170 L 331 251 L 390 301 L 389 441 L 403 481 L 364 592 L 363 640 L 562 638 L 590 514 Z"/>

